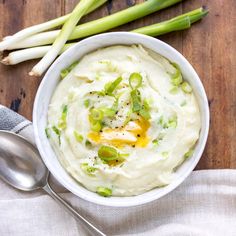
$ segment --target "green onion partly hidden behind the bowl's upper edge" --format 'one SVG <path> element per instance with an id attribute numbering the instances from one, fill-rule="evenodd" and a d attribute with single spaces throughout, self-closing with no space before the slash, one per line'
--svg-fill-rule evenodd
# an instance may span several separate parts
<path id="1" fill-rule="evenodd" d="M 201 7 L 170 20 L 135 29 L 132 32 L 156 37 L 172 31 L 188 29 L 192 23 L 202 19 L 207 13 L 208 11 Z M 73 45 L 75 45 L 75 43 L 66 44 L 60 53 L 63 53 Z M 23 61 L 41 58 L 50 50 L 50 48 L 51 46 L 41 46 L 11 52 L 2 60 L 2 63 L 6 65 L 15 65 Z"/>

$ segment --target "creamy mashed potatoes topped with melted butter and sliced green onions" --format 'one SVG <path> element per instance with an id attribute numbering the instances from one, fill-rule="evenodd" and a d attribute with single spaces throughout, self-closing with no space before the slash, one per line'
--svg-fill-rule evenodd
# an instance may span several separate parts
<path id="1" fill-rule="evenodd" d="M 169 184 L 200 132 L 178 65 L 133 45 L 99 49 L 72 67 L 53 94 L 46 128 L 66 171 L 102 196 Z"/>

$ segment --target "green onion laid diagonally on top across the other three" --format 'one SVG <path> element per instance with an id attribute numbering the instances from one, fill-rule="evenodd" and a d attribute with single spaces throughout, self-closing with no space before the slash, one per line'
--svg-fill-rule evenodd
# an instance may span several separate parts
<path id="1" fill-rule="evenodd" d="M 77 25 L 78 21 L 81 17 L 86 13 L 89 7 L 96 0 L 81 0 L 75 9 L 72 11 L 71 15 L 69 16 L 68 20 L 63 25 L 60 33 L 56 37 L 55 41 L 53 42 L 52 47 L 47 52 L 47 54 L 37 63 L 32 71 L 29 73 L 31 76 L 41 76 L 48 67 L 52 64 L 52 62 L 56 59 L 62 48 L 64 47 L 66 41 L 70 37 L 71 33 L 73 32 L 75 26 Z"/>

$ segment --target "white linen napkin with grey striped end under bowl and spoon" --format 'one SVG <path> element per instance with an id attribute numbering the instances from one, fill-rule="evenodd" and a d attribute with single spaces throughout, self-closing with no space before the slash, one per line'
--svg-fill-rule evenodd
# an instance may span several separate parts
<path id="1" fill-rule="evenodd" d="M 32 124 L 1 105 L 0 129 L 12 130 L 34 143 Z M 167 196 L 130 208 L 89 203 L 53 182 L 53 188 L 64 199 L 107 235 L 236 235 L 236 170 L 194 171 Z M 0 235 L 87 234 L 44 192 L 21 192 L 0 181 Z"/>

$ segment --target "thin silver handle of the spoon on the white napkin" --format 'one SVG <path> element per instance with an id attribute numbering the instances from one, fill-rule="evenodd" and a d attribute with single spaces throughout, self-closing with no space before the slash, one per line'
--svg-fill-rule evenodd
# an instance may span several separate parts
<path id="1" fill-rule="evenodd" d="M 98 236 L 106 236 L 103 232 L 101 232 L 98 228 L 96 228 L 92 223 L 86 220 L 83 216 L 81 216 L 75 209 L 73 209 L 65 200 L 63 200 L 58 194 L 56 194 L 47 183 L 43 187 L 43 189 L 62 207 L 64 207 L 68 213 L 70 213 L 77 221 L 83 223 L 84 226 L 89 230 L 92 235 Z"/>

